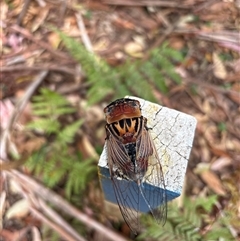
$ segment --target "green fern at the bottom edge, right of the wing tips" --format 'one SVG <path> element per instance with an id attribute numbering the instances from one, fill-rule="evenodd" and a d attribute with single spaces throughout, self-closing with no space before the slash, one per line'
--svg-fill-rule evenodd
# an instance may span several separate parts
<path id="1" fill-rule="evenodd" d="M 183 209 L 170 204 L 168 218 L 164 226 L 159 226 L 152 217 L 146 215 L 143 217 L 146 230 L 138 237 L 138 240 L 235 240 L 228 228 L 229 219 L 226 221 L 226 219 L 218 217 L 214 221 L 208 220 L 209 213 L 216 203 L 217 196 L 212 195 L 208 198 L 199 198 L 194 202 L 185 199 Z M 209 225 L 211 227 L 209 230 L 204 228 Z"/>

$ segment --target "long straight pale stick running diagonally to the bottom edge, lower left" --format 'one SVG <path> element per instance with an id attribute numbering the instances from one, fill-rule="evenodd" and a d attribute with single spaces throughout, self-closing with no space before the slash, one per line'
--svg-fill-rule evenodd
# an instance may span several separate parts
<path id="1" fill-rule="evenodd" d="M 126 241 L 123 237 L 116 234 L 110 229 L 107 229 L 100 223 L 93 220 L 91 217 L 81 213 L 77 208 L 71 206 L 68 202 L 66 202 L 61 196 L 55 194 L 53 191 L 45 188 L 41 184 L 37 183 L 35 180 L 31 179 L 28 176 L 23 175 L 22 173 L 12 170 L 11 172 L 6 172 L 9 176 L 17 179 L 18 183 L 21 185 L 27 186 L 40 198 L 51 202 L 60 210 L 66 212 L 68 215 L 75 217 L 76 219 L 83 222 L 87 227 L 93 228 L 98 232 L 102 233 L 106 238 L 109 238 L 114 241 Z"/>

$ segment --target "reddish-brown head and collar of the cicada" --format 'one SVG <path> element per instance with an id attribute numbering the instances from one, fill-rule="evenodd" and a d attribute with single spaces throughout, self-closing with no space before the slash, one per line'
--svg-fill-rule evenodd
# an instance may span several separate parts
<path id="1" fill-rule="evenodd" d="M 108 124 L 122 120 L 141 117 L 141 107 L 138 100 L 118 99 L 104 108 Z"/>

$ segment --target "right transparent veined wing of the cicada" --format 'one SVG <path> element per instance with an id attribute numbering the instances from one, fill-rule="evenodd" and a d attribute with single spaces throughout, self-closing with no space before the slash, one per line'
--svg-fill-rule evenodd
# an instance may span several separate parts
<path id="1" fill-rule="evenodd" d="M 167 218 L 167 193 L 164 174 L 155 144 L 149 131 L 146 129 L 142 131 L 142 135 L 139 137 L 138 150 L 138 155 L 141 158 L 148 156 L 147 172 L 139 188 L 156 221 L 164 224 Z M 151 191 L 144 188 L 148 184 L 155 186 L 155 188 L 151 188 Z M 153 208 L 157 206 L 158 208 Z"/>

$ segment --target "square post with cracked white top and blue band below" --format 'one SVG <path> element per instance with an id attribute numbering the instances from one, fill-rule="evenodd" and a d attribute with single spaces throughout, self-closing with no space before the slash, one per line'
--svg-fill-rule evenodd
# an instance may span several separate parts
<path id="1" fill-rule="evenodd" d="M 167 201 L 170 201 L 181 195 L 197 121 L 193 116 L 134 96 L 127 96 L 127 98 L 140 101 L 142 115 L 148 119 L 147 126 L 152 128 L 150 132 L 163 168 Z M 100 156 L 98 168 L 105 199 L 117 203 L 107 166 L 106 145 Z M 118 181 L 120 184 L 121 182 L 126 182 L 122 179 L 118 179 Z M 131 185 L 137 184 L 132 182 Z M 153 190 L 161 187 L 144 184 L 144 188 L 154 195 L 155 192 Z M 141 210 L 139 211 L 149 211 L 143 198 L 140 200 L 140 204 Z M 138 210 L 139 207 L 135 207 L 134 205 L 133 203 L 133 206 L 130 208 Z"/>

